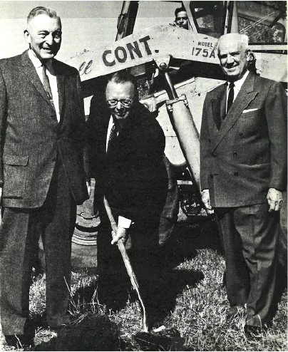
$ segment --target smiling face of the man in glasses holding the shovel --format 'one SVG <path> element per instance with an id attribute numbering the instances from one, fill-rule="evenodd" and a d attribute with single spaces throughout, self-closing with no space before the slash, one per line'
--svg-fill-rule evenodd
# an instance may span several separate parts
<path id="1" fill-rule="evenodd" d="M 133 99 L 135 98 L 135 88 L 133 83 L 125 82 L 125 83 L 116 83 L 114 81 L 110 81 L 106 87 L 106 100 L 132 100 L 130 106 L 125 106 L 117 101 L 115 106 L 110 106 L 108 104 L 108 108 L 113 118 L 118 120 L 118 123 L 123 123 L 128 116 L 130 115 L 130 110 L 133 105 Z"/>

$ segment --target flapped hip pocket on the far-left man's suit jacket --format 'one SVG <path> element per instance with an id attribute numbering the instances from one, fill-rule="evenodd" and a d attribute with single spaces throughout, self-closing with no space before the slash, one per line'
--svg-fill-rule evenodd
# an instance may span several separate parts
<path id="1" fill-rule="evenodd" d="M 29 156 L 6 155 L 4 163 L 4 198 L 22 198 L 26 187 Z"/>

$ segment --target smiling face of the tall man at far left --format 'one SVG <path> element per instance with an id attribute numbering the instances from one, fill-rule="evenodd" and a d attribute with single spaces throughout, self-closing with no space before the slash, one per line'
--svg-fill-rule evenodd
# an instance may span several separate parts
<path id="1" fill-rule="evenodd" d="M 39 60 L 47 61 L 58 53 L 61 46 L 61 21 L 39 14 L 29 21 L 25 38 Z"/>

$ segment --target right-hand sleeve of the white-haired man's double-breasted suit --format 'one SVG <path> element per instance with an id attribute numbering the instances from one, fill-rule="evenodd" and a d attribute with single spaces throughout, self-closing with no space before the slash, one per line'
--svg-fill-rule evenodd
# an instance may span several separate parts
<path id="1" fill-rule="evenodd" d="M 274 82 L 264 103 L 270 144 L 269 187 L 285 190 L 287 185 L 287 97 L 281 83 Z"/>

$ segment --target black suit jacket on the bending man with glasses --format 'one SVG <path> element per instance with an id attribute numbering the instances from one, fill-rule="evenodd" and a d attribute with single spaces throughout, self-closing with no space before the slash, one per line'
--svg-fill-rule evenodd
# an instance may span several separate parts
<path id="1" fill-rule="evenodd" d="M 104 98 L 104 97 L 102 97 Z M 88 118 L 91 172 L 96 192 L 106 195 L 115 216 L 138 221 L 159 218 L 165 204 L 168 179 L 163 153 L 165 136 L 158 121 L 136 103 L 129 120 L 109 148 L 106 138 L 110 112 L 94 96 Z"/>

